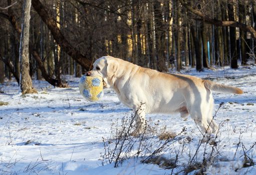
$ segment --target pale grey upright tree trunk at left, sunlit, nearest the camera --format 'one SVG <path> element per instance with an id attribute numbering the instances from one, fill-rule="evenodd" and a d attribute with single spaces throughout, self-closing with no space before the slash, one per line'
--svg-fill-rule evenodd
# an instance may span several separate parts
<path id="1" fill-rule="evenodd" d="M 24 6 L 23 6 L 22 33 L 21 33 L 21 43 L 20 43 L 22 94 L 36 92 L 36 89 L 32 87 L 32 79 L 29 74 L 30 72 L 30 62 L 29 62 L 30 9 L 31 9 L 31 0 L 25 0 Z"/>

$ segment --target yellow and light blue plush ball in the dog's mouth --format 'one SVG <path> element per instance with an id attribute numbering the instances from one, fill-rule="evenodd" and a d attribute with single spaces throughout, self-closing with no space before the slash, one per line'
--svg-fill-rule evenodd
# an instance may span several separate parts
<path id="1" fill-rule="evenodd" d="M 102 77 L 83 75 L 79 81 L 79 90 L 89 101 L 99 100 L 104 95 Z"/>

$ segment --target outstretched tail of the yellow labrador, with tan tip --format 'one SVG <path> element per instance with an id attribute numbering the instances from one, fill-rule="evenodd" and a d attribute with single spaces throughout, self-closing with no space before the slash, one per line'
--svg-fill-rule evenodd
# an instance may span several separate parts
<path id="1" fill-rule="evenodd" d="M 236 94 L 243 93 L 242 89 L 237 88 L 237 87 L 219 84 L 219 83 L 212 82 L 209 80 L 203 80 L 203 83 L 206 88 L 213 90 L 213 91 L 224 92 L 224 93 L 236 93 Z"/>

